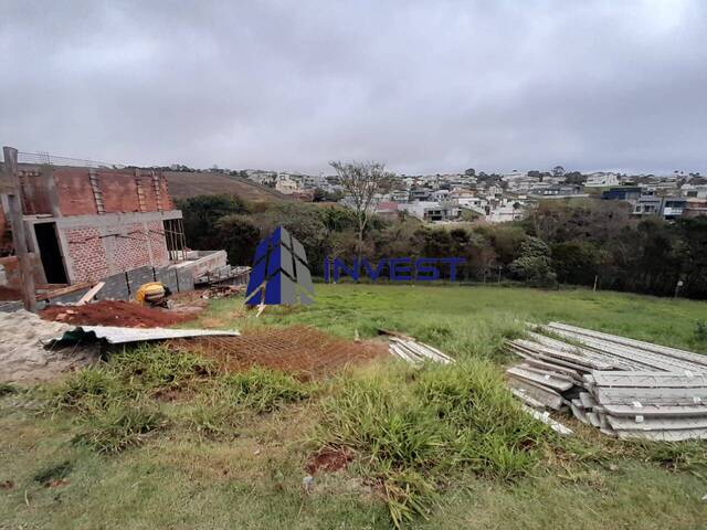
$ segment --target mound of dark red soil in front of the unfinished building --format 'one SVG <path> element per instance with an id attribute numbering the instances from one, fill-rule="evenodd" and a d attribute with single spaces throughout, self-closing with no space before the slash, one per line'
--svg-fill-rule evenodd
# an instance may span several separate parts
<path id="1" fill-rule="evenodd" d="M 188 315 L 169 309 L 144 307 L 123 300 L 101 300 L 84 306 L 50 306 L 40 311 L 44 320 L 84 326 L 119 326 L 123 328 L 161 328 L 191 320 Z"/>

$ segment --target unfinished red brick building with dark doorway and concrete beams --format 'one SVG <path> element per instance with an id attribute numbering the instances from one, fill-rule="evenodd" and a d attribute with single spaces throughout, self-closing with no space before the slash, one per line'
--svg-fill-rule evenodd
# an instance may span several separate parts
<path id="1" fill-rule="evenodd" d="M 184 248 L 182 215 L 159 171 L 20 165 L 19 180 L 28 245 L 44 283 L 161 267 Z M 3 208 L 0 248 L 11 251 Z M 3 259 L 8 269 L 11 259 Z"/>

